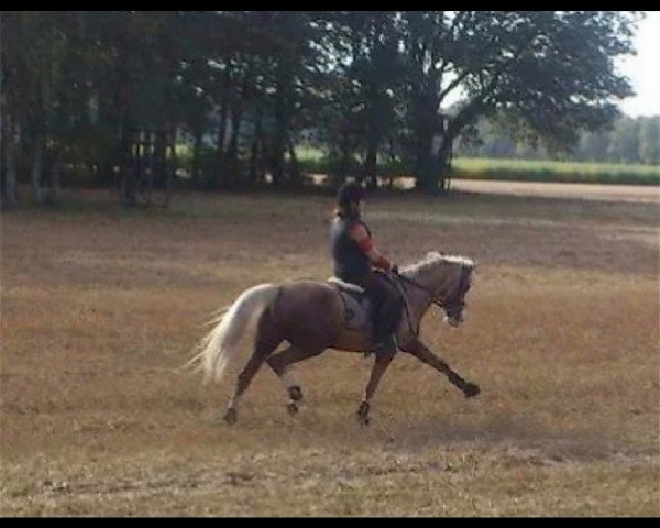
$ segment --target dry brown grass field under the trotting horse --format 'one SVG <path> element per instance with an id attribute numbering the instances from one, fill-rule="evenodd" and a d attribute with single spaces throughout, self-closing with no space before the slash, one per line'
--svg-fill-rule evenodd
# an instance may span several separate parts
<path id="1" fill-rule="evenodd" d="M 326 277 L 332 198 L 114 195 L 1 219 L 4 516 L 660 516 L 657 204 L 458 194 L 375 197 L 399 263 L 477 261 L 458 330 L 427 343 L 477 398 L 399 354 L 296 367 L 297 417 L 262 370 L 239 422 L 177 371 L 210 312 L 260 282 Z M 248 353 L 244 344 L 241 361 Z"/>

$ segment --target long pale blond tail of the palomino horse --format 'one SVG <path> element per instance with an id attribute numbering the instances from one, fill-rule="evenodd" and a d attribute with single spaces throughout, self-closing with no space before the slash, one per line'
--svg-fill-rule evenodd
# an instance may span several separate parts
<path id="1" fill-rule="evenodd" d="M 260 284 L 241 294 L 226 311 L 209 323 L 213 329 L 199 342 L 195 356 L 184 369 L 195 367 L 204 372 L 204 382 L 220 381 L 229 362 L 238 351 L 239 340 L 264 309 L 275 300 L 279 287 L 273 284 Z"/>

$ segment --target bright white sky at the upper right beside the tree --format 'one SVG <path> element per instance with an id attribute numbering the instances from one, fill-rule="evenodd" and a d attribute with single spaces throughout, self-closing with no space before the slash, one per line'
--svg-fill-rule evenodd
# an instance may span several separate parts
<path id="1" fill-rule="evenodd" d="M 646 11 L 635 35 L 636 56 L 618 61 L 636 96 L 624 99 L 619 108 L 628 116 L 660 114 L 660 11 Z"/>

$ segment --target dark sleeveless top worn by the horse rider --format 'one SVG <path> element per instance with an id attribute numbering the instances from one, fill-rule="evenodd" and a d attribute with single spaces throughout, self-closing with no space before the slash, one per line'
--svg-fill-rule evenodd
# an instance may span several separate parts
<path id="1" fill-rule="evenodd" d="M 371 272 L 369 257 L 362 252 L 358 242 L 351 237 L 351 229 L 361 223 L 371 237 L 371 231 L 360 217 L 337 217 L 330 228 L 334 275 L 342 280 L 351 282 Z"/>

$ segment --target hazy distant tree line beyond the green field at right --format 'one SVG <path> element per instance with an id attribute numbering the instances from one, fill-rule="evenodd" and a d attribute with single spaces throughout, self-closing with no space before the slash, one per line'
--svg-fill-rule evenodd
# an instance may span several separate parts
<path id="1" fill-rule="evenodd" d="M 477 135 L 459 139 L 457 155 L 519 160 L 660 164 L 660 116 L 618 117 L 610 127 L 581 131 L 570 151 L 553 151 L 515 138 L 497 120 L 482 119 Z"/>

